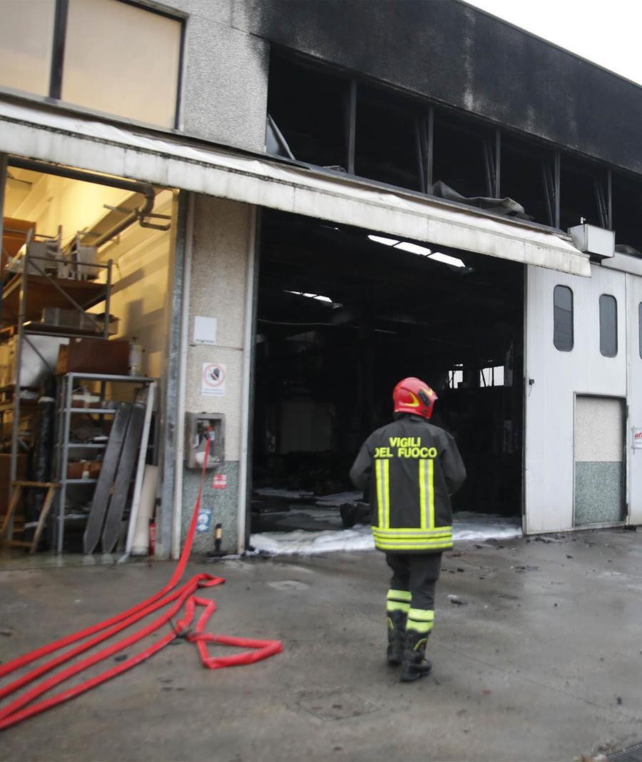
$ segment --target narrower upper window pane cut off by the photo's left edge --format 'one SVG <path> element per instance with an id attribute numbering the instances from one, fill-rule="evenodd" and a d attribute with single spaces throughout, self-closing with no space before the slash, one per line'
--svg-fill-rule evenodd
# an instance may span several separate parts
<path id="1" fill-rule="evenodd" d="M 56 0 L 0 0 L 0 85 L 49 94 Z"/>

